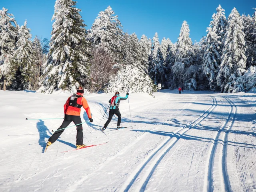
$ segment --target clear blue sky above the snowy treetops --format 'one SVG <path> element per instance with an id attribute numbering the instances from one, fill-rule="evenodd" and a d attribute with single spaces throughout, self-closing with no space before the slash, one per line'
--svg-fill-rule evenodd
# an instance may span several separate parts
<path id="1" fill-rule="evenodd" d="M 98 13 L 108 5 L 112 7 L 121 21 L 124 32 L 135 32 L 140 38 L 142 34 L 152 38 L 158 32 L 163 37 L 176 42 L 182 22 L 186 20 L 190 26 L 190 38 L 194 42 L 206 35 L 212 14 L 220 4 L 225 9 L 226 17 L 236 7 L 240 14 L 254 13 L 255 0 L 77 0 L 77 8 L 87 29 L 91 27 Z M 27 19 L 33 36 L 50 39 L 52 31 L 52 15 L 55 0 L 0 0 L 14 14 L 21 26 Z"/>

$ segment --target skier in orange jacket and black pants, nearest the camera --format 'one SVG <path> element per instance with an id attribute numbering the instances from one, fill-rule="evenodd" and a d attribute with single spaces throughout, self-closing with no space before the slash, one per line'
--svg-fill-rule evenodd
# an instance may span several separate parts
<path id="1" fill-rule="evenodd" d="M 48 146 L 54 143 L 60 137 L 60 135 L 64 132 L 65 129 L 63 128 L 66 128 L 71 122 L 74 122 L 75 125 L 79 124 L 76 126 L 76 130 L 77 130 L 76 148 L 78 149 L 86 146 L 83 144 L 84 135 L 83 135 L 82 120 L 80 117 L 81 107 L 83 107 L 84 110 L 86 111 L 90 122 L 93 122 L 92 114 L 86 99 L 83 97 L 84 88 L 79 87 L 76 91 L 77 93 L 70 96 L 66 101 L 66 103 L 64 104 L 64 114 L 65 114 L 64 121 L 62 122 L 62 125 L 60 126 L 60 128 L 58 128 L 56 132 L 54 132 L 54 134 L 52 134 L 52 136 L 49 138 L 46 144 L 46 150 Z"/>

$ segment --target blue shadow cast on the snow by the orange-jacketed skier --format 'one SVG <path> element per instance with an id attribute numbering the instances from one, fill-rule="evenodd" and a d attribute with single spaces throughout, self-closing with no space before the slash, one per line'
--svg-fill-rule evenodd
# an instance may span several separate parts
<path id="1" fill-rule="evenodd" d="M 38 133 L 39 133 L 39 140 L 38 140 L 38 144 L 42 147 L 42 153 L 44 153 L 44 150 L 46 148 L 46 144 L 47 142 L 45 141 L 45 138 L 50 138 L 50 136 L 47 134 L 47 132 L 52 135 L 52 133 L 50 132 L 50 130 L 44 125 L 44 121 L 39 120 L 39 122 L 36 123 L 36 128 L 38 129 Z M 72 148 L 76 148 L 76 146 L 72 143 L 66 142 L 66 141 L 62 141 L 60 139 L 58 139 L 57 141 L 66 144 Z"/>

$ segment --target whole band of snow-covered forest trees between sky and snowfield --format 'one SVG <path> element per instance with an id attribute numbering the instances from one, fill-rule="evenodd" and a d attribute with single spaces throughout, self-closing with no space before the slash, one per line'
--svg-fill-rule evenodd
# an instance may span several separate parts
<path id="1" fill-rule="evenodd" d="M 256 9 L 252 16 L 219 5 L 200 42 L 183 22 L 178 41 L 122 30 L 110 6 L 90 30 L 73 0 L 56 0 L 52 38 L 40 39 L 0 10 L 0 89 L 152 94 L 163 88 L 240 92 L 256 90 Z"/>

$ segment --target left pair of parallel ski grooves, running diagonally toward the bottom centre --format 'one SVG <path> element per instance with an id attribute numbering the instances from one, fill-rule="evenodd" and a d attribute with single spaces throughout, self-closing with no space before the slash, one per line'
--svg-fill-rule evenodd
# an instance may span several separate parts
<path id="1" fill-rule="evenodd" d="M 172 138 L 169 138 L 162 146 L 160 146 L 156 152 L 154 152 L 154 154 L 152 154 L 150 157 L 146 158 L 143 162 L 143 165 L 140 167 L 140 169 L 137 171 L 136 169 L 136 173 L 135 174 L 131 174 L 130 178 L 132 178 L 132 180 L 130 180 L 130 182 L 126 182 L 128 183 L 128 185 L 126 184 L 123 188 L 121 188 L 120 191 L 124 191 L 124 192 L 128 192 L 130 190 L 130 188 L 132 187 L 132 185 L 134 184 L 134 182 L 136 181 L 137 177 L 140 175 L 140 173 L 142 172 L 142 170 L 146 167 L 146 165 L 150 162 L 150 160 L 152 160 L 152 158 L 160 153 L 158 155 L 158 157 L 156 158 L 156 160 L 154 160 L 154 163 L 147 168 L 147 170 L 151 170 L 148 174 L 146 174 L 146 180 L 141 179 L 142 181 L 140 181 L 140 183 L 143 182 L 142 186 L 139 185 L 139 187 L 137 187 L 136 191 L 140 191 L 143 192 L 146 189 L 146 186 L 150 180 L 150 177 L 152 176 L 154 170 L 156 169 L 156 167 L 158 166 L 158 164 L 160 163 L 160 161 L 162 160 L 162 158 L 168 153 L 168 151 L 170 151 L 170 149 L 176 144 L 176 142 L 181 138 L 181 136 L 183 134 L 185 134 L 188 130 L 190 130 L 191 128 L 193 128 L 194 126 L 196 126 L 197 124 L 199 124 L 200 122 L 202 122 L 202 120 L 204 120 L 211 112 L 212 110 L 214 110 L 214 108 L 216 108 L 217 106 L 217 100 L 214 96 L 210 96 L 212 98 L 212 106 L 210 106 L 205 112 L 204 114 L 200 115 L 200 117 L 196 118 L 196 120 L 194 120 L 193 122 L 191 122 L 189 125 L 183 126 L 182 128 L 179 128 L 177 130 L 175 130 L 172 133 Z M 197 122 L 199 121 L 199 122 Z M 186 129 L 186 130 L 185 130 Z M 175 137 L 177 136 L 177 138 Z M 169 143 L 170 142 L 170 143 Z M 167 145 L 167 149 L 164 148 Z M 163 149 L 163 150 L 162 150 Z M 140 188 L 140 189 L 139 189 Z"/>

